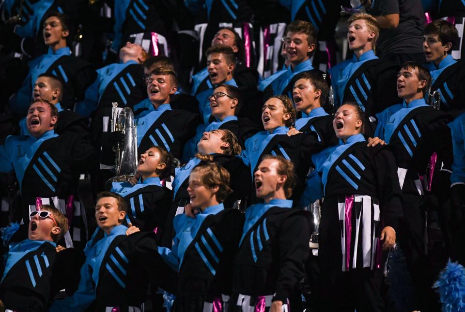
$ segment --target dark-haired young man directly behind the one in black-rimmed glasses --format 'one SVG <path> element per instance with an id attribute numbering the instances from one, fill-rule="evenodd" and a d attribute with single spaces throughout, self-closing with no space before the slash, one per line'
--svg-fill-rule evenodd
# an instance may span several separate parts
<path id="1" fill-rule="evenodd" d="M 233 49 L 226 45 L 217 44 L 208 48 L 205 52 L 207 55 L 207 71 L 211 81 L 211 87 L 196 94 L 199 101 L 199 110 L 202 115 L 204 124 L 209 124 L 212 114 L 210 109 L 210 96 L 213 90 L 220 84 L 232 85 L 237 87 L 233 78 L 233 71 L 236 67 L 236 58 Z"/>

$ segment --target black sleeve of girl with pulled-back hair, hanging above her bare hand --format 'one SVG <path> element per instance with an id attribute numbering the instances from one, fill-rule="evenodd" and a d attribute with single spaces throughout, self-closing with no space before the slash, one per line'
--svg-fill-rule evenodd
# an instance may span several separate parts
<path id="1" fill-rule="evenodd" d="M 387 147 L 373 147 L 376 194 L 380 204 L 383 226 L 397 228 L 403 220 L 402 191 L 397 176 L 394 155 Z"/>

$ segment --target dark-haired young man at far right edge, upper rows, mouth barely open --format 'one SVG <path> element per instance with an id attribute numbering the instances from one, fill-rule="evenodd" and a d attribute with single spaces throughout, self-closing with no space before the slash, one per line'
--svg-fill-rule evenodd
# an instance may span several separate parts
<path id="1" fill-rule="evenodd" d="M 441 109 L 456 115 L 464 109 L 465 71 L 463 62 L 450 55 L 457 29 L 442 19 L 434 20 L 423 30 L 423 51 L 429 61 L 427 68 L 433 78 L 431 90 L 439 91 Z"/>

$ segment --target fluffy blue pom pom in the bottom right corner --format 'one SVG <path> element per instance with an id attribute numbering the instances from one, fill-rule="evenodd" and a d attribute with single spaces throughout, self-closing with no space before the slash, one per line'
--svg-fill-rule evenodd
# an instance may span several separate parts
<path id="1" fill-rule="evenodd" d="M 465 311 L 465 268 L 450 262 L 439 274 L 434 288 L 441 297 L 443 312 Z"/>

